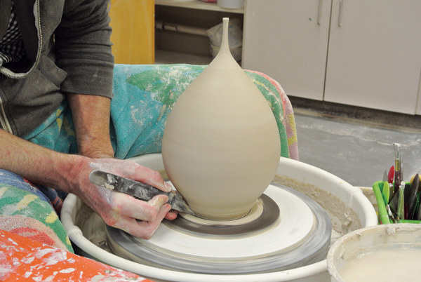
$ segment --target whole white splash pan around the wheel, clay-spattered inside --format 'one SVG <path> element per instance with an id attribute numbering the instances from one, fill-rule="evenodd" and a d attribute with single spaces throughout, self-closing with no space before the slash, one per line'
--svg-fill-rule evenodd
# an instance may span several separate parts
<path id="1" fill-rule="evenodd" d="M 161 154 L 143 155 L 131 160 L 153 170 L 163 172 L 164 169 Z M 339 234 L 341 231 L 346 234 L 361 227 L 377 225 L 377 214 L 361 189 L 352 187 L 351 184 L 320 168 L 292 159 L 280 158 L 274 181 L 298 190 L 307 196 L 312 196 L 313 199 L 319 201 L 328 213 L 334 231 Z M 328 264 L 324 258 L 319 262 L 306 263 L 307 265 L 303 267 L 288 269 L 288 271 L 266 271 L 260 274 L 201 274 L 163 269 L 163 267 L 133 262 L 109 253 L 103 248 L 102 242 L 106 240 L 105 222 L 73 194 L 69 194 L 63 203 L 61 221 L 69 239 L 86 256 L 113 267 L 134 272 L 153 281 L 330 281 L 327 271 Z M 281 241 L 281 236 L 278 237 Z M 332 240 L 335 240 L 335 237 L 332 237 Z M 248 248 L 248 246 L 244 248 Z M 222 250 L 220 253 L 224 253 L 224 251 Z"/>

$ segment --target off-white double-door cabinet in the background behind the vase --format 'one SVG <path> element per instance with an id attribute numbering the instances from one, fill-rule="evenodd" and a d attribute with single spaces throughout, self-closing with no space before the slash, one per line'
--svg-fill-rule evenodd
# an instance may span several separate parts
<path id="1" fill-rule="evenodd" d="M 288 95 L 421 114 L 420 15 L 420 0 L 247 0 L 243 67 Z"/>

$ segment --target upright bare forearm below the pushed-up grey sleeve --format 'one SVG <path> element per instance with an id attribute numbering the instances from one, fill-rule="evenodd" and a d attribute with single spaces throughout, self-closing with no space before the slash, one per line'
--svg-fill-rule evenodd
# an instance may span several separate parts
<path id="1" fill-rule="evenodd" d="M 112 158 L 109 137 L 109 107 L 111 100 L 98 95 L 68 93 L 76 130 L 78 152 L 92 158 Z"/>

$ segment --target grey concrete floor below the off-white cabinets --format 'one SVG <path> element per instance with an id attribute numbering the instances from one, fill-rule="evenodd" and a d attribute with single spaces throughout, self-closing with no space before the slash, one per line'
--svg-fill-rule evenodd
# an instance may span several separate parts
<path id="1" fill-rule="evenodd" d="M 396 142 L 402 146 L 403 180 L 409 181 L 411 176 L 421 173 L 421 116 L 382 112 L 377 114 L 381 119 L 372 119 L 361 114 L 366 109 L 348 107 L 336 111 L 338 105 L 329 107 L 319 102 L 323 105 L 318 107 L 312 101 L 309 107 L 305 102 L 290 100 L 295 112 L 300 161 L 354 186 L 371 187 L 394 165 L 392 144 Z"/>

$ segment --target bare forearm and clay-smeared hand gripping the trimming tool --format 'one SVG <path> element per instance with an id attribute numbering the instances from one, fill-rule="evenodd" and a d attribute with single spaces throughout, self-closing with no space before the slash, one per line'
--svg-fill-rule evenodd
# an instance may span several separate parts
<path id="1" fill-rule="evenodd" d="M 31 182 L 76 194 L 110 226 L 144 239 L 154 234 L 164 217 L 169 220 L 177 217 L 170 212 L 171 205 L 165 204 L 168 196 L 158 195 L 145 202 L 89 181 L 91 171 L 100 169 L 145 182 L 164 192 L 171 190 L 159 173 L 133 161 L 61 154 L 0 129 L 0 168 Z"/>

